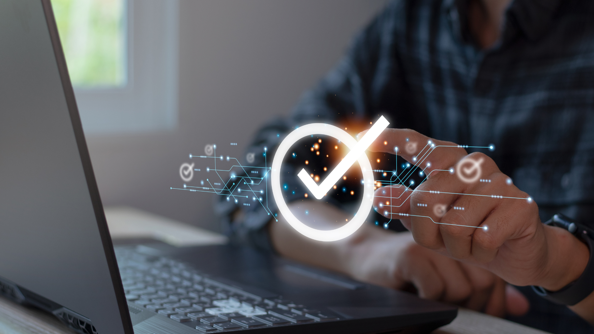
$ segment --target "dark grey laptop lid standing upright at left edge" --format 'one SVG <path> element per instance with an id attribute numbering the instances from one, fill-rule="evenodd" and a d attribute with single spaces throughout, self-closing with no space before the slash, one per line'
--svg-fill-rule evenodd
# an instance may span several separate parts
<path id="1" fill-rule="evenodd" d="M 131 333 L 49 0 L 0 1 L 0 45 L 0 291 Z"/>

